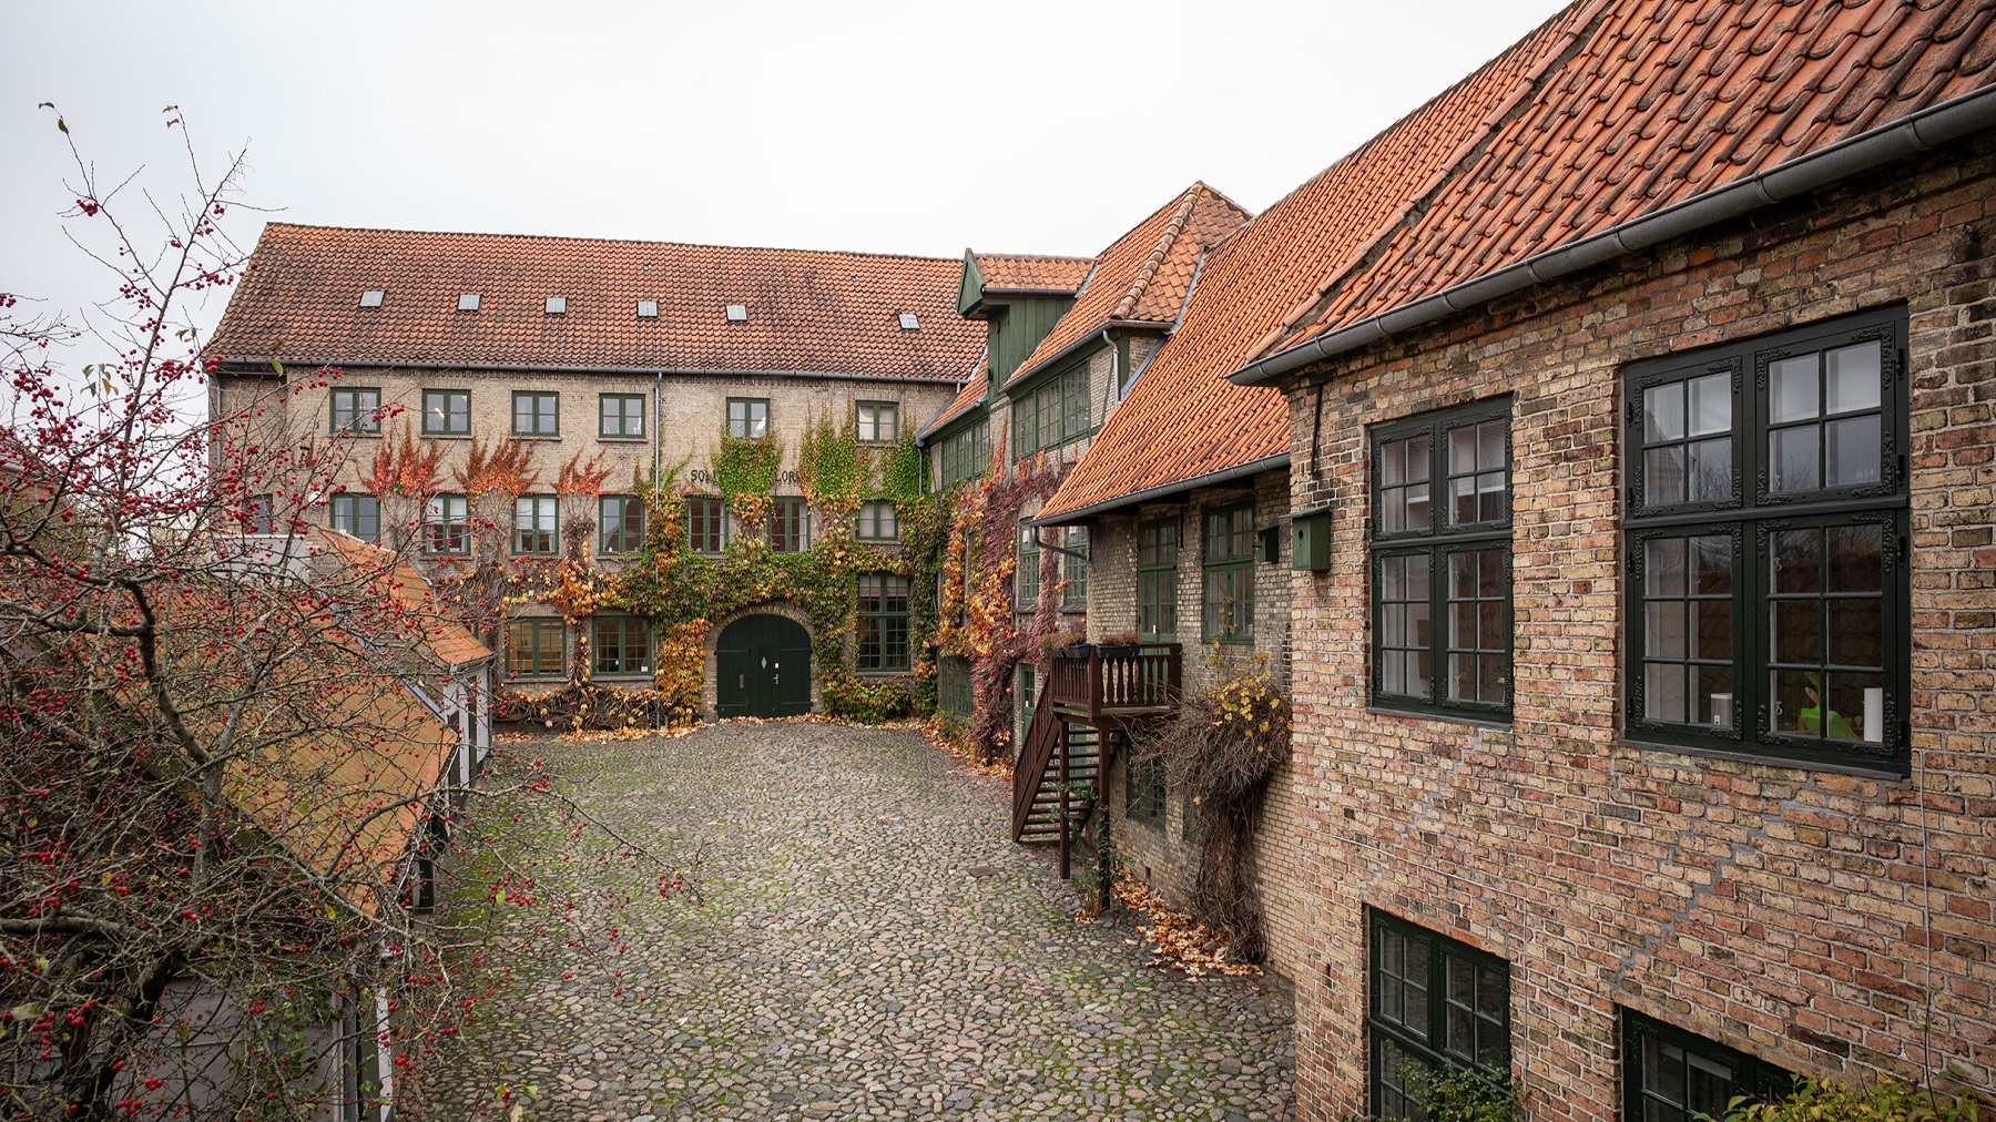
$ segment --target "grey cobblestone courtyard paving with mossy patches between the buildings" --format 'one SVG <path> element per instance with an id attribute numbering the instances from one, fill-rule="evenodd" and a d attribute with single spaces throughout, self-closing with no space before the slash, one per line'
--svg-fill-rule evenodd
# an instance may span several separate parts
<path id="1" fill-rule="evenodd" d="M 1146 968 L 1134 922 L 1072 922 L 1050 854 L 1006 841 L 1010 787 L 912 731 L 523 747 L 605 823 L 701 848 L 705 904 L 629 872 L 627 954 L 515 982 L 441 1064 L 443 1118 L 499 1080 L 539 1088 L 527 1120 L 1293 1116 L 1287 986 Z"/>

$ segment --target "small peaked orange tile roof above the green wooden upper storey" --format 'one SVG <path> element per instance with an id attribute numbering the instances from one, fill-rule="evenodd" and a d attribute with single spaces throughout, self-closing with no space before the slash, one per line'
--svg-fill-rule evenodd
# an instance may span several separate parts
<path id="1" fill-rule="evenodd" d="M 1006 385 L 1030 377 L 1112 321 L 1146 321 L 1160 329 L 1178 321 L 1192 276 L 1208 250 L 1228 240 L 1251 214 L 1206 184 L 1192 184 L 1156 214 L 1136 224 L 1096 258 L 1096 270 Z"/>

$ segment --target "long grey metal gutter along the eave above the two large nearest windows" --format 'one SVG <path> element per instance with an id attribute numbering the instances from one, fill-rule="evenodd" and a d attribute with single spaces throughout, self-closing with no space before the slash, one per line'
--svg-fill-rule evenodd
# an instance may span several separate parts
<path id="1" fill-rule="evenodd" d="M 1263 385 L 1317 359 L 1391 339 L 1397 333 L 1425 327 L 1501 295 L 1613 262 L 1623 254 L 1649 250 L 1673 238 L 1695 234 L 1762 206 L 1792 200 L 1992 126 L 1996 126 L 1996 86 L 1984 86 L 1972 94 L 1928 106 L 1888 126 L 1866 130 L 1816 152 L 1796 156 L 1766 172 L 1754 172 L 1659 212 L 1631 218 L 1601 234 L 1533 254 L 1513 266 L 1453 283 L 1441 291 L 1309 339 L 1307 343 L 1255 359 L 1230 373 L 1228 379 L 1236 385 Z"/>

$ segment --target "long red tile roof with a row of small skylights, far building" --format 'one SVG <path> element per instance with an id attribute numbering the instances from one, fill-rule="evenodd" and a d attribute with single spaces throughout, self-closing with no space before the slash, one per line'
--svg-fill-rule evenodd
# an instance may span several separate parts
<path id="1" fill-rule="evenodd" d="M 956 313 L 954 258 L 273 222 L 251 262 L 214 355 L 956 381 L 984 347 L 984 325 Z M 369 289 L 381 307 L 359 305 Z M 477 293 L 477 311 L 459 311 L 459 293 Z M 553 295 L 565 313 L 545 311 Z M 639 317 L 641 299 L 659 315 Z M 727 319 L 731 303 L 747 323 Z M 902 311 L 920 327 L 902 329 Z"/>

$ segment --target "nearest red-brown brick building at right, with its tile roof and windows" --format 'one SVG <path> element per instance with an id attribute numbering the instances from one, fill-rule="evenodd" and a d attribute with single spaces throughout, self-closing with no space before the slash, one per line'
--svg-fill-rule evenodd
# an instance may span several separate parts
<path id="1" fill-rule="evenodd" d="M 1224 250 L 1317 266 L 1234 373 L 1327 535 L 1307 1118 L 1992 1094 L 1992 62 L 1988 4 L 1575 4 Z"/>

